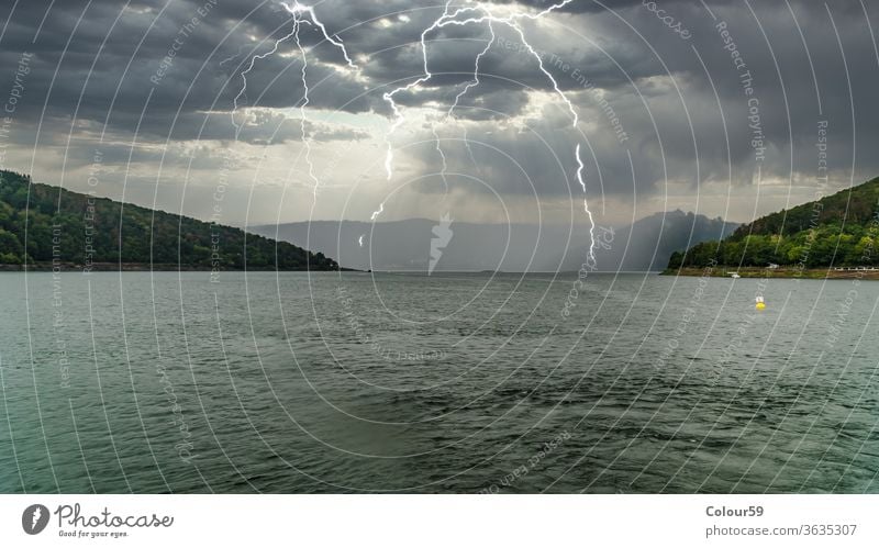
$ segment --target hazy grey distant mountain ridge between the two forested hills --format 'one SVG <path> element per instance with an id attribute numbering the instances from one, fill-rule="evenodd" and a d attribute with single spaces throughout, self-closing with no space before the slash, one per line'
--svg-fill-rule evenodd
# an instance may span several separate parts
<path id="1" fill-rule="evenodd" d="M 583 227 L 453 222 L 448 225 L 452 234 L 431 268 L 436 245 L 433 231 L 441 225 L 441 219 L 411 219 L 381 223 L 314 221 L 247 230 L 320 250 L 352 268 L 375 270 L 572 271 L 580 268 L 589 248 L 589 232 Z M 681 211 L 657 213 L 614 230 L 610 249 L 598 251 L 598 267 L 602 271 L 660 270 L 671 253 L 725 237 L 737 226 Z"/>

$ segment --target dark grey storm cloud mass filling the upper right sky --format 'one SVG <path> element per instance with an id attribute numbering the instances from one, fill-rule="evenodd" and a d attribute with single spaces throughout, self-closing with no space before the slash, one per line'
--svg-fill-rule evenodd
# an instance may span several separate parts
<path id="1" fill-rule="evenodd" d="M 589 16 L 590 27 L 600 29 L 597 43 L 603 52 L 582 47 L 572 38 L 538 38 L 538 48 L 544 59 L 564 64 L 549 69 L 592 122 L 594 128 L 587 138 L 601 150 L 592 174 L 603 174 L 603 189 L 609 193 L 663 193 L 666 180 L 685 182 L 696 192 L 706 180 L 753 184 L 758 175 L 763 180 L 814 187 L 817 125 L 823 122 L 831 128 L 833 184 L 842 187 L 849 179 L 857 183 L 879 174 L 872 153 L 879 145 L 874 99 L 879 70 L 867 19 L 875 21 L 876 10 L 867 8 L 865 16 L 860 4 L 857 9 L 852 4 L 830 2 L 825 8 L 792 2 L 789 8 L 781 2 L 724 2 L 712 4 L 714 20 L 698 4 L 663 3 L 691 30 L 689 41 L 636 5 L 620 13 L 623 20 L 607 12 Z M 730 33 L 728 44 L 720 32 L 723 29 Z M 538 71 L 527 70 L 528 59 L 525 54 L 493 55 L 486 59 L 486 70 L 547 89 Z M 737 68 L 736 59 L 744 60 L 745 67 Z M 601 88 L 619 115 L 631 136 L 625 147 L 614 142 L 612 127 L 597 109 L 596 94 L 576 92 L 583 78 Z M 746 94 L 746 88 L 753 89 L 753 96 Z M 501 147 L 513 147 L 528 165 L 546 166 L 552 160 L 542 144 L 522 146 L 520 136 L 504 133 L 494 134 L 493 139 Z M 555 152 L 565 158 L 566 150 L 570 156 L 569 148 L 569 142 L 563 141 Z M 626 149 L 632 153 L 635 188 Z M 430 169 L 436 169 L 430 149 L 422 156 Z M 459 161 L 466 165 L 468 159 L 463 156 Z M 574 168 L 568 161 L 566 172 Z M 507 176 L 498 184 L 523 190 L 513 172 Z M 567 191 L 559 184 L 546 189 Z"/>

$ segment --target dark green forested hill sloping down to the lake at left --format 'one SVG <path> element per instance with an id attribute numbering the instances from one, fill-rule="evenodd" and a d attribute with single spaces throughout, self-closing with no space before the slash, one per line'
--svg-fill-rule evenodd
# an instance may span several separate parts
<path id="1" fill-rule="evenodd" d="M 0 265 L 53 261 L 85 267 L 338 270 L 323 254 L 292 244 L 0 171 Z"/>

